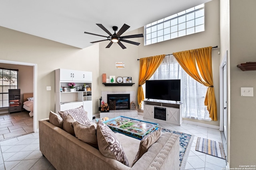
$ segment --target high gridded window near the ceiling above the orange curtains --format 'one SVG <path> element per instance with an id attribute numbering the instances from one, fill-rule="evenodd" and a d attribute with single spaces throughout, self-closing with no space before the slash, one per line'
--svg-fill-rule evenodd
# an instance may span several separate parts
<path id="1" fill-rule="evenodd" d="M 204 4 L 144 26 L 144 45 L 204 31 Z"/>

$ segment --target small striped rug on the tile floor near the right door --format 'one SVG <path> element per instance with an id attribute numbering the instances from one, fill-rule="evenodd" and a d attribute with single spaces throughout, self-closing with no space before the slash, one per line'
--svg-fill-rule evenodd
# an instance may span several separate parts
<path id="1" fill-rule="evenodd" d="M 221 142 L 198 137 L 196 142 L 196 150 L 225 159 L 224 147 Z"/>

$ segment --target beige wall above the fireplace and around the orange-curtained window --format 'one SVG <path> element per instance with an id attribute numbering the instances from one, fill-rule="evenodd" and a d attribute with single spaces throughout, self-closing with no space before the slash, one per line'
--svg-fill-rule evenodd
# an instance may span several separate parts
<path id="1" fill-rule="evenodd" d="M 179 37 L 176 39 L 171 39 L 168 41 L 163 41 L 161 43 L 156 43 L 152 45 L 144 46 L 143 38 L 130 39 L 131 41 L 140 42 L 139 46 L 130 45 L 128 43 L 123 43 L 127 49 L 122 49 L 118 44 L 113 44 L 110 49 L 105 47 L 109 42 L 100 43 L 100 71 L 99 76 L 102 73 L 106 73 L 107 77 L 113 76 L 132 76 L 132 81 L 135 83 L 132 87 L 105 87 L 102 85 L 102 79 L 99 78 L 100 90 L 136 90 L 138 89 L 138 75 L 139 75 L 139 61 L 137 59 L 150 57 L 154 55 L 161 54 L 171 54 L 178 51 L 197 49 L 202 47 L 216 46 L 220 45 L 220 17 L 219 17 L 219 0 L 213 0 L 205 4 L 205 31 Z M 144 27 L 131 31 L 128 34 L 144 34 Z M 217 102 L 217 107 L 219 110 L 219 65 L 220 65 L 220 55 L 218 55 L 219 49 L 212 49 L 212 65 L 213 65 L 213 76 L 214 76 L 214 89 L 215 97 Z M 115 68 L 115 62 L 124 62 L 125 68 L 117 69 Z M 99 94 L 100 95 L 100 94 Z M 138 105 L 138 101 L 136 101 Z M 219 111 L 218 111 L 219 117 Z M 219 121 L 198 121 L 195 119 L 186 119 L 190 121 L 196 121 L 200 123 L 207 123 L 210 125 L 219 126 Z"/>

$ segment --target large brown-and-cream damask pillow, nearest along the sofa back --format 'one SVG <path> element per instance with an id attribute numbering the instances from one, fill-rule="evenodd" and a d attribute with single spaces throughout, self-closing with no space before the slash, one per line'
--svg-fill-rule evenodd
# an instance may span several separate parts
<path id="1" fill-rule="evenodd" d="M 114 132 L 102 121 L 98 121 L 96 133 L 100 152 L 108 158 L 113 158 L 129 166 L 124 149 Z"/>

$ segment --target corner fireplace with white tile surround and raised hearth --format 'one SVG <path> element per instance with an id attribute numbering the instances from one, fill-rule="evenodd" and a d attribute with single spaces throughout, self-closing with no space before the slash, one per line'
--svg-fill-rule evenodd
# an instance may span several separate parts
<path id="1" fill-rule="evenodd" d="M 110 109 L 109 112 L 101 112 L 100 117 L 109 117 L 114 118 L 118 116 L 126 116 L 126 117 L 137 117 L 137 110 L 130 110 L 130 103 L 135 102 L 136 100 L 136 92 L 135 91 L 102 91 L 101 92 L 102 101 L 110 104 L 109 97 L 112 98 L 113 101 L 119 100 L 119 106 L 116 104 L 115 109 Z M 126 100 L 125 97 L 129 97 L 130 101 Z M 119 99 L 118 99 L 119 98 Z"/>

